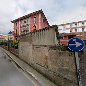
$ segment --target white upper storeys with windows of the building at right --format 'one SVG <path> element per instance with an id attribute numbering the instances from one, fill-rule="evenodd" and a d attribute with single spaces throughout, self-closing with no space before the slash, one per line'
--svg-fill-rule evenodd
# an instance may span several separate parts
<path id="1" fill-rule="evenodd" d="M 86 31 L 86 20 L 58 25 L 59 33 L 77 33 Z"/>

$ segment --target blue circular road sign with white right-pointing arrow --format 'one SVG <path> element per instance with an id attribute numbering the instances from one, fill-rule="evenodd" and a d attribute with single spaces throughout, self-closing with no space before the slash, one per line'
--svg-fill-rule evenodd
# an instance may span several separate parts
<path id="1" fill-rule="evenodd" d="M 68 42 L 68 48 L 75 52 L 82 51 L 84 49 L 84 41 L 79 38 L 72 38 Z"/>

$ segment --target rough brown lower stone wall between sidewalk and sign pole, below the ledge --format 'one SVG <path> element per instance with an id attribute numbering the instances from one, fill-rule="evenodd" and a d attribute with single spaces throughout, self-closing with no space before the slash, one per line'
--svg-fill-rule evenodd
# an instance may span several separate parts
<path id="1" fill-rule="evenodd" d="M 77 86 L 73 53 L 54 50 L 50 46 L 31 46 L 27 43 L 21 43 L 21 48 L 20 58 L 56 84 Z"/>

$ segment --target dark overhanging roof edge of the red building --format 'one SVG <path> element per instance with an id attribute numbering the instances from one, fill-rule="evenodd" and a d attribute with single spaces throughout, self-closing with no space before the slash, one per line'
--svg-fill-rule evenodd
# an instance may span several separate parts
<path id="1" fill-rule="evenodd" d="M 27 15 L 25 15 L 25 16 L 22 16 L 22 17 L 20 17 L 20 18 L 17 18 L 17 19 L 15 19 L 15 20 L 11 21 L 11 22 L 12 22 L 12 23 L 17 22 L 17 21 L 19 21 L 19 20 L 23 20 L 23 19 L 29 18 L 30 16 L 35 15 L 35 14 L 38 14 L 38 13 L 42 13 L 42 14 L 44 15 L 44 13 L 43 13 L 43 11 L 42 11 L 42 9 L 41 9 L 41 10 L 35 11 L 35 12 L 33 12 L 33 13 L 27 14 Z M 45 15 L 44 15 L 44 17 L 45 17 Z M 46 17 L 45 17 L 45 19 L 47 20 Z M 48 21 L 47 21 L 47 24 L 49 25 Z"/>

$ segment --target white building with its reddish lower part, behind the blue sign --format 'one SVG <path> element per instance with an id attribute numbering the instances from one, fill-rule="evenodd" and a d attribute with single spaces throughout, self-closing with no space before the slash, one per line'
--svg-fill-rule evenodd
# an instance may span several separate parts
<path id="1" fill-rule="evenodd" d="M 86 20 L 58 25 L 61 45 L 68 45 L 68 41 L 77 37 L 86 43 Z"/>

